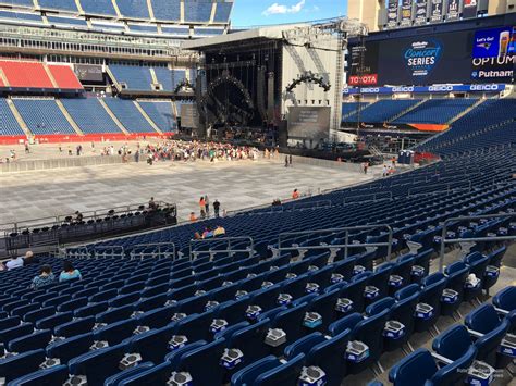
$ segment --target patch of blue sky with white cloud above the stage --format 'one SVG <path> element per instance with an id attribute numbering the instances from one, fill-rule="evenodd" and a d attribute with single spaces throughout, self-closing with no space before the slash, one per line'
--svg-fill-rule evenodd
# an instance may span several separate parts
<path id="1" fill-rule="evenodd" d="M 295 23 L 344 15 L 347 0 L 235 0 L 232 25 Z"/>

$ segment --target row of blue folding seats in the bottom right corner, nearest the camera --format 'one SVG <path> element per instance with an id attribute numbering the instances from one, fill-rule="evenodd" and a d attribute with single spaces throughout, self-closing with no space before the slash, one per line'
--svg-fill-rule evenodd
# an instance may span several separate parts
<path id="1" fill-rule="evenodd" d="M 400 361 L 389 374 L 394 386 L 471 384 L 492 382 L 494 372 L 504 369 L 515 356 L 514 343 L 506 334 L 516 331 L 516 287 L 494 296 L 453 325 L 432 344 L 433 352 L 420 348 Z M 444 383 L 446 382 L 446 383 Z M 381 385 L 374 383 L 374 385 Z"/>

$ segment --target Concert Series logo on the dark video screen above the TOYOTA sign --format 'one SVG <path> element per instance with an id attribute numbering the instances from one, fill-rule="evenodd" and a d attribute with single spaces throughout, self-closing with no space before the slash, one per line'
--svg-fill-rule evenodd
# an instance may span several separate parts
<path id="1" fill-rule="evenodd" d="M 428 76 L 442 55 L 442 46 L 435 40 L 414 41 L 403 54 L 411 76 Z"/>

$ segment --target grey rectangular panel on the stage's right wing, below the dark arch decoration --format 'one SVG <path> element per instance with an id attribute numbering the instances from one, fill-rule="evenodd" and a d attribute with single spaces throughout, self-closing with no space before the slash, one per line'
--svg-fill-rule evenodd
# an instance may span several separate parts
<path id="1" fill-rule="evenodd" d="M 328 139 L 330 113 L 330 107 L 288 108 L 288 138 Z"/>

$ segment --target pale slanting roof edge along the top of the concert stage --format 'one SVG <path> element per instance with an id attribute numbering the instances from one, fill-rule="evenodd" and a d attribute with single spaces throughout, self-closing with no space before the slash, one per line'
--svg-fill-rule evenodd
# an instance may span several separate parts
<path id="1" fill-rule="evenodd" d="M 250 39 L 283 39 L 283 32 L 294 29 L 306 24 L 279 25 L 273 27 L 262 27 L 256 29 L 242 30 L 234 34 L 219 35 L 204 39 L 189 40 L 183 42 L 181 48 L 185 50 L 202 51 L 204 49 L 213 49 L 218 46 L 224 46 L 232 42 L 239 42 Z"/>

